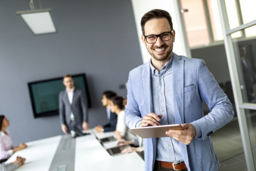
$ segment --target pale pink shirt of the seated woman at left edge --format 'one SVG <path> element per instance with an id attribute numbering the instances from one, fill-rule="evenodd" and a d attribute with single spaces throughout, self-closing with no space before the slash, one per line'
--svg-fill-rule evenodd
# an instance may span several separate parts
<path id="1" fill-rule="evenodd" d="M 9 132 L 0 131 L 0 160 L 9 158 L 13 154 L 12 149 L 14 146 Z"/>

